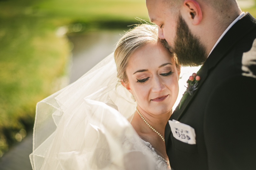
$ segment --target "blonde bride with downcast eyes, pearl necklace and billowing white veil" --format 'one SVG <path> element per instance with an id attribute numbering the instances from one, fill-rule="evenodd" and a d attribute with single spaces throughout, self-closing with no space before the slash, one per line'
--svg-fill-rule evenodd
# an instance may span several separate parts
<path id="1" fill-rule="evenodd" d="M 179 75 L 157 26 L 130 30 L 114 54 L 37 103 L 33 170 L 169 169 L 164 128 Z"/>

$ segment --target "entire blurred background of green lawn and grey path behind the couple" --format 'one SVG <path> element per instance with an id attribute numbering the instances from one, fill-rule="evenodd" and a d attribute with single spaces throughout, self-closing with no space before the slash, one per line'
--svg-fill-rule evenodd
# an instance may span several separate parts
<path id="1" fill-rule="evenodd" d="M 256 17 L 256 0 L 239 0 Z M 0 0 L 0 170 L 31 170 L 36 103 L 113 52 L 145 0 Z"/>

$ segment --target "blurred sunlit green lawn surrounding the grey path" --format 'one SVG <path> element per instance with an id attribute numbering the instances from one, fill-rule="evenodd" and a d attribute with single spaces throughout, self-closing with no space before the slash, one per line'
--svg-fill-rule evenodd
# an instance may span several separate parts
<path id="1" fill-rule="evenodd" d="M 32 129 L 36 103 L 65 85 L 70 44 L 56 30 L 127 30 L 135 17 L 148 20 L 145 0 L 0 1 L 0 157 Z"/>

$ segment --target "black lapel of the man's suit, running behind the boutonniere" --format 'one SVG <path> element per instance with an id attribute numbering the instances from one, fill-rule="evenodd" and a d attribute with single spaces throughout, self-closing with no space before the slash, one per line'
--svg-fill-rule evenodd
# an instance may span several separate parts
<path id="1" fill-rule="evenodd" d="M 203 85 L 209 72 L 221 61 L 224 56 L 232 49 L 232 47 L 241 40 L 246 34 L 248 34 L 256 26 L 256 19 L 252 17 L 251 14 L 246 12 L 246 14 L 240 18 L 224 35 L 217 46 L 213 49 L 212 53 L 209 55 L 205 61 L 202 68 L 198 71 L 200 76 L 200 81 L 198 82 L 198 89 Z M 179 109 L 180 104 L 176 107 L 172 116 L 169 120 L 175 119 L 179 121 L 181 117 L 186 113 L 188 106 L 191 101 L 196 96 L 198 89 L 194 92 L 192 96 L 188 95 L 187 99 L 184 101 L 183 106 Z M 165 144 L 167 149 L 168 139 L 170 138 L 171 129 L 169 123 L 165 127 Z"/>

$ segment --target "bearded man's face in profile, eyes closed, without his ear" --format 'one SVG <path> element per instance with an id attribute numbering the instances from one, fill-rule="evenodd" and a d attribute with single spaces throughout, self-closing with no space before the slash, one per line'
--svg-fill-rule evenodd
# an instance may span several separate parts
<path id="1" fill-rule="evenodd" d="M 207 55 L 204 45 L 194 36 L 180 11 L 162 1 L 146 0 L 148 15 L 158 26 L 158 37 L 167 41 L 166 47 L 177 55 L 184 66 L 198 66 L 205 62 Z"/>

